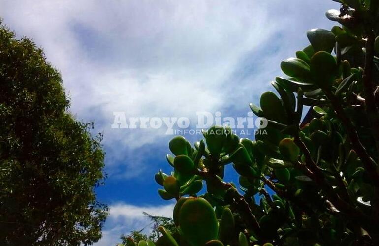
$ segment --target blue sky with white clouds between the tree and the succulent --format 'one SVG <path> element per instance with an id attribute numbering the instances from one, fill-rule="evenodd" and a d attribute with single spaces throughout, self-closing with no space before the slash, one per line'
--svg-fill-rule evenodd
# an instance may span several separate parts
<path id="1" fill-rule="evenodd" d="M 110 215 L 96 246 L 149 224 L 142 212 L 171 216 L 154 174 L 171 170 L 167 127 L 114 129 L 130 117 L 185 117 L 196 112 L 247 117 L 280 62 L 307 46 L 306 31 L 330 29 L 330 0 L 0 0 L 17 37 L 44 49 L 62 74 L 76 119 L 104 134 Z M 186 134 L 192 143 L 201 135 Z M 253 138 L 252 135 L 242 137 Z M 232 170 L 228 169 L 232 172 Z M 229 172 L 229 173 L 230 173 Z M 226 179 L 235 178 L 228 174 Z"/>

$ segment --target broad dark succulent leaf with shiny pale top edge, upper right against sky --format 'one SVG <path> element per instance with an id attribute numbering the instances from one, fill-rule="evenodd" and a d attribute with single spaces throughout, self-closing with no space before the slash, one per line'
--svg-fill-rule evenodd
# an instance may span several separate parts
<path id="1" fill-rule="evenodd" d="M 336 38 L 333 32 L 325 29 L 311 29 L 307 31 L 307 37 L 315 52 L 325 51 L 331 53 L 336 45 Z"/>

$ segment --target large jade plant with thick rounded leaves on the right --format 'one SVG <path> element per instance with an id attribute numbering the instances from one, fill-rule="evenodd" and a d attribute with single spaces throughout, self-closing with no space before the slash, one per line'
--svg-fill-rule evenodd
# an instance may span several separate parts
<path id="1" fill-rule="evenodd" d="M 213 126 L 195 148 L 169 142 L 173 173 L 155 179 L 177 200 L 180 237 L 160 227 L 156 245 L 379 245 L 379 1 L 334 1 L 326 16 L 341 26 L 308 31 L 281 63 L 288 78 L 271 82 L 279 97 L 250 105 L 267 122 L 254 141 Z"/>

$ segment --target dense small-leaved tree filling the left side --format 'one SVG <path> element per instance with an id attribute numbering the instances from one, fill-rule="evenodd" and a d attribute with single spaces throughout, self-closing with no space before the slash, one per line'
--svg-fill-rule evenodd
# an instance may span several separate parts
<path id="1" fill-rule="evenodd" d="M 60 74 L 0 23 L 0 244 L 88 245 L 107 207 L 101 134 L 67 111 Z"/>

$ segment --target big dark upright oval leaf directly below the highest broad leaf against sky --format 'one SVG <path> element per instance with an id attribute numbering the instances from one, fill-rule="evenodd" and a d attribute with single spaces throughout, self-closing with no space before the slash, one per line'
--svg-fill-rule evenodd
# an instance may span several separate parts
<path id="1" fill-rule="evenodd" d="M 319 51 L 311 58 L 311 73 L 321 88 L 329 88 L 338 72 L 336 59 L 328 52 Z"/>

